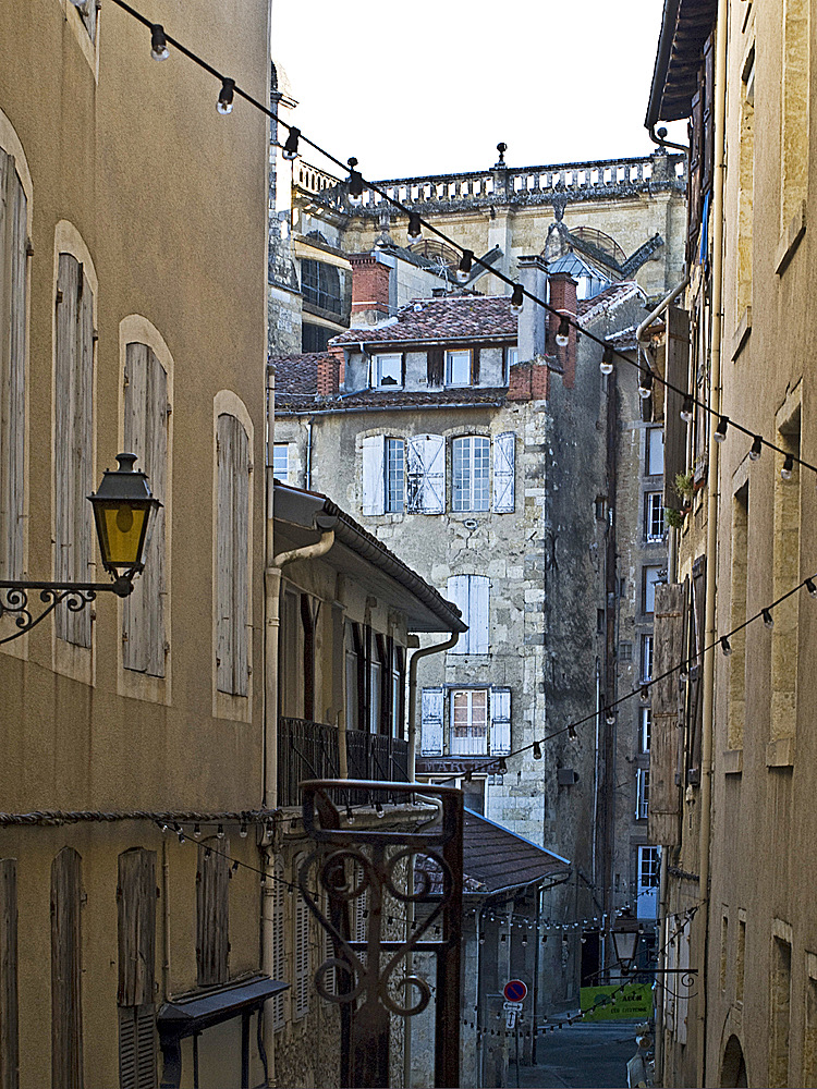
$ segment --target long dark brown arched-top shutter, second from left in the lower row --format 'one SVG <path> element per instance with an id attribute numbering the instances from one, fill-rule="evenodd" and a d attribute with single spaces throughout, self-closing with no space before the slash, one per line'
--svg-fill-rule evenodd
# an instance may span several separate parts
<path id="1" fill-rule="evenodd" d="M 51 1086 L 83 1087 L 82 859 L 63 847 L 51 864 Z"/>

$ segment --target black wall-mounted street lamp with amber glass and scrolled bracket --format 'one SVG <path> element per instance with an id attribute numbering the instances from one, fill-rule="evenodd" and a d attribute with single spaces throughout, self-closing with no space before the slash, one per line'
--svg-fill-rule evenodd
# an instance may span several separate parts
<path id="1" fill-rule="evenodd" d="M 17 628 L 0 639 L 0 645 L 20 638 L 65 602 L 71 612 L 81 612 L 99 592 L 112 592 L 126 598 L 133 590 L 133 579 L 143 570 L 143 555 L 155 511 L 161 506 L 150 494 L 144 473 L 134 468 L 136 454 L 117 454 L 119 468 L 106 469 L 98 490 L 88 495 L 99 540 L 102 566 L 110 583 L 39 583 L 0 579 L 0 619 L 14 616 Z M 39 590 L 46 605 L 38 616 L 28 608 L 28 591 Z"/>

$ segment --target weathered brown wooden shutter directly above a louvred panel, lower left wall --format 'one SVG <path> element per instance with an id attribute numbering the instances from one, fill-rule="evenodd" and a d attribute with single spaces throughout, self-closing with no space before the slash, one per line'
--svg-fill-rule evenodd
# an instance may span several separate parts
<path id="1" fill-rule="evenodd" d="M 132 847 L 119 856 L 117 885 L 121 1006 L 154 999 L 156 960 L 156 852 Z"/>

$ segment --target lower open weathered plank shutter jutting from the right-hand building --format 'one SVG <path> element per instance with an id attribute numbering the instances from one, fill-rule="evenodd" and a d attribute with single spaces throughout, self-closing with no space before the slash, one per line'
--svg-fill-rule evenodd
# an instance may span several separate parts
<path id="1" fill-rule="evenodd" d="M 656 587 L 653 675 L 653 725 L 649 742 L 650 843 L 674 846 L 681 842 L 681 791 L 675 779 L 678 759 L 679 688 L 674 668 L 684 651 L 684 588 L 680 584 Z M 663 676 L 669 673 L 669 676 Z"/>

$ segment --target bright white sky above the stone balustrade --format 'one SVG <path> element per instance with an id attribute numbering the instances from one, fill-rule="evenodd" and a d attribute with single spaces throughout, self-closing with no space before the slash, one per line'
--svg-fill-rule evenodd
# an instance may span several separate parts
<path id="1" fill-rule="evenodd" d="M 292 123 L 373 180 L 648 155 L 662 0 L 272 0 Z M 685 125 L 670 127 L 685 143 Z M 305 148 L 304 159 L 327 166 Z M 338 168 L 331 168 L 337 173 Z"/>

